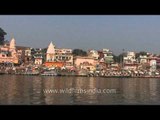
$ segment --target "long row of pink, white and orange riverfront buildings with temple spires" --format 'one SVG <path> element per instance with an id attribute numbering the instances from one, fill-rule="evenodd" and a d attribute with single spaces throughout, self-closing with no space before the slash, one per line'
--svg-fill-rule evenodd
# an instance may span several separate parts
<path id="1" fill-rule="evenodd" d="M 92 76 L 160 75 L 159 55 L 151 53 L 137 55 L 136 52 L 127 51 L 120 58 L 120 62 L 117 62 L 113 52 L 107 48 L 91 49 L 85 56 L 78 56 L 73 54 L 72 49 L 58 48 L 52 42 L 46 49 L 16 46 L 14 38 L 0 47 L 0 63 L 16 65 L 11 68 L 2 66 L 3 70 L 7 71 L 6 73 L 19 70 L 21 72 L 29 70 L 32 73 L 35 70 L 38 74 L 46 69 L 61 69 L 68 72 L 64 73 L 65 75 L 79 75 L 80 73 Z M 69 73 L 71 71 L 76 71 L 76 73 Z"/>

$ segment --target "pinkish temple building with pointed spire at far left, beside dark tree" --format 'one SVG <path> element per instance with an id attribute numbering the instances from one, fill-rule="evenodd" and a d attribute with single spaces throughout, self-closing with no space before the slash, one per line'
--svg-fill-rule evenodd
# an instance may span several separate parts
<path id="1" fill-rule="evenodd" d="M 0 63 L 18 64 L 18 54 L 16 51 L 16 42 L 12 38 L 9 44 L 0 46 Z"/>

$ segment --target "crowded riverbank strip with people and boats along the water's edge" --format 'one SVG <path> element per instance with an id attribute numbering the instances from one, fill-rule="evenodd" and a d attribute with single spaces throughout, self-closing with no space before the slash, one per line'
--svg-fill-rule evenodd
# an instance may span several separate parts
<path id="1" fill-rule="evenodd" d="M 1 69 L 0 75 L 28 75 L 28 76 L 75 76 L 75 77 L 105 77 L 105 78 L 160 78 L 160 71 L 149 70 L 86 70 L 86 69 L 60 69 L 33 66 L 6 67 Z"/>

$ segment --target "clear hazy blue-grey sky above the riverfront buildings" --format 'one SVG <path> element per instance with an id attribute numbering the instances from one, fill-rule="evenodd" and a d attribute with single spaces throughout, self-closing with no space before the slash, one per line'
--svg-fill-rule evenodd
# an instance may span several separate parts
<path id="1" fill-rule="evenodd" d="M 160 54 L 160 15 L 0 15 L 0 27 L 19 46 Z"/>

